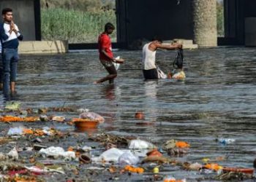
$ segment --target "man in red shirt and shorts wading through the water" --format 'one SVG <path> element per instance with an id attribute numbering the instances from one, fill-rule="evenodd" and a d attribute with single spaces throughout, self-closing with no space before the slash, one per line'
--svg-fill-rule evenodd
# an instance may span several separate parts
<path id="1" fill-rule="evenodd" d="M 105 81 L 109 81 L 110 84 L 114 82 L 117 76 L 117 71 L 113 63 L 123 63 L 124 60 L 116 60 L 113 58 L 110 34 L 115 30 L 115 26 L 112 23 L 105 25 L 105 31 L 99 35 L 98 46 L 99 46 L 99 60 L 100 63 L 106 68 L 109 75 L 102 79 L 99 79 L 95 84 L 99 84 Z"/>

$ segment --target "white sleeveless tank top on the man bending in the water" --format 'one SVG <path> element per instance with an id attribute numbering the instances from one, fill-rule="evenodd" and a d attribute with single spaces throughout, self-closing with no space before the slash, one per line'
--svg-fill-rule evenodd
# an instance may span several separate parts
<path id="1" fill-rule="evenodd" d="M 145 44 L 142 51 L 142 66 L 144 70 L 157 68 L 156 66 L 156 52 L 148 49 L 148 44 Z"/>

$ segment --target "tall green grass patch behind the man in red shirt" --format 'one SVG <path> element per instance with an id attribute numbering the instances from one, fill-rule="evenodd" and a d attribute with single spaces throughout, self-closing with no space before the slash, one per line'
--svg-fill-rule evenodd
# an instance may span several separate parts
<path id="1" fill-rule="evenodd" d="M 41 10 L 42 39 L 68 40 L 69 43 L 95 43 L 99 33 L 104 31 L 105 23 L 116 25 L 113 10 L 81 12 L 62 8 Z M 112 41 L 116 41 L 114 31 Z"/>

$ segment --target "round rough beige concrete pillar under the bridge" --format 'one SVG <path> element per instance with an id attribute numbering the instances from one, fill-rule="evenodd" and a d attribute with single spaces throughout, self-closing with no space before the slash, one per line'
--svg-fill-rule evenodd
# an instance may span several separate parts
<path id="1" fill-rule="evenodd" d="M 217 46 L 216 0 L 192 0 L 193 35 L 199 47 Z"/>

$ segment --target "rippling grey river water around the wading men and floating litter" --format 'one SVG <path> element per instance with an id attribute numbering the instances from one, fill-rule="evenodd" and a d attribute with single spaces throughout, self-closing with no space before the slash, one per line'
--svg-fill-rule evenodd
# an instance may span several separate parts
<path id="1" fill-rule="evenodd" d="M 134 136 L 162 147 L 165 141 L 176 139 L 190 144 L 189 153 L 175 157 L 181 162 L 199 162 L 217 159 L 225 167 L 253 168 L 256 158 L 256 53 L 253 48 L 221 47 L 206 50 L 184 50 L 184 69 L 187 79 L 143 81 L 141 51 L 117 51 L 126 62 L 118 70 L 115 84 L 93 84 L 107 72 L 94 51 L 64 55 L 20 55 L 17 93 L 12 98 L 22 108 L 75 106 L 89 108 L 105 118 L 92 133 L 107 132 L 118 136 Z M 157 64 L 162 71 L 170 71 L 175 51 L 158 51 Z M 0 104 L 5 105 L 3 95 Z M 138 125 L 135 113 L 142 111 L 148 125 Z M 56 113 L 55 113 L 56 114 Z M 58 115 L 58 114 L 56 114 Z M 78 117 L 78 113 L 62 114 Z M 86 145 L 88 132 L 76 132 L 67 124 L 23 124 L 26 127 L 48 125 L 80 137 Z M 1 136 L 12 124 L 1 124 Z M 230 144 L 218 138 L 235 140 Z M 77 138 L 66 138 L 46 146 L 76 146 Z M 44 139 L 42 139 L 44 140 Z M 61 140 L 61 139 L 60 139 Z M 23 143 L 23 144 L 20 144 Z M 1 152 L 10 151 L 10 145 L 1 145 Z M 21 140 L 17 145 L 28 145 Z M 92 143 L 96 145 L 96 143 Z M 9 148 L 7 148 L 9 147 Z M 96 153 L 102 153 L 97 148 Z M 21 154 L 22 155 L 22 154 Z M 26 154 L 25 154 L 26 155 Z M 165 154 L 167 156 L 167 154 Z M 225 158 L 225 159 L 224 159 Z M 47 181 L 88 181 L 86 165 L 77 175 L 53 175 Z M 102 175 L 101 175 L 102 174 Z M 104 175 L 103 175 L 104 174 Z M 113 174 L 99 172 L 92 181 L 110 181 Z M 116 175 L 116 181 L 148 181 L 154 174 Z M 187 171 L 181 167 L 164 165 L 159 175 L 171 175 L 187 181 L 210 181 L 217 173 Z M 62 176 L 62 177 L 61 177 Z M 85 176 L 87 176 L 85 178 Z M 86 179 L 86 180 L 85 180 Z M 208 180 L 207 180 L 208 179 Z M 162 180 L 163 181 L 163 180 Z M 212 178 L 211 178 L 212 181 Z M 251 181 L 251 180 L 248 180 Z M 253 181 L 253 180 L 252 180 Z"/>

